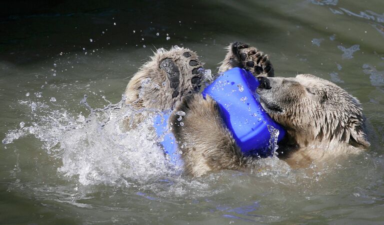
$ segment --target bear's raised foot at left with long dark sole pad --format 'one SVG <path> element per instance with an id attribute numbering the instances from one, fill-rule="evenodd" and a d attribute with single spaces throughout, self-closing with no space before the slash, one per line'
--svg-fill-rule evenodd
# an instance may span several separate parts
<path id="1" fill-rule="evenodd" d="M 125 103 L 134 109 L 171 109 L 184 95 L 200 89 L 202 65 L 188 48 L 160 48 L 129 80 Z"/>

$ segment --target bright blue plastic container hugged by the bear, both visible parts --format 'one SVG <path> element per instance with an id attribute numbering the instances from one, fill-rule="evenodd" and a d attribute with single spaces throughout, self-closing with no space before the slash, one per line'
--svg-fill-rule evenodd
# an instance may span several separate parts
<path id="1" fill-rule="evenodd" d="M 271 135 L 268 126 L 279 131 L 277 142 L 283 138 L 285 131 L 262 109 L 256 94 L 258 85 L 250 72 L 233 68 L 217 77 L 202 95 L 209 95 L 219 104 L 221 117 L 244 154 L 268 157 L 273 154 L 269 148 Z M 169 115 L 170 112 L 158 115 L 154 127 L 157 135 L 163 137 L 161 144 L 165 154 L 171 162 L 181 165 L 177 143 L 167 126 Z"/>

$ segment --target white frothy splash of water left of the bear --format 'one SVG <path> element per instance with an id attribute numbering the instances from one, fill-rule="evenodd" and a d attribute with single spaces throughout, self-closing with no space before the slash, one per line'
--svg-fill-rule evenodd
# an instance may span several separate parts
<path id="1" fill-rule="evenodd" d="M 43 143 L 47 154 L 62 161 L 58 173 L 76 177 L 82 185 L 129 186 L 178 173 L 157 145 L 152 127 L 154 111 L 134 110 L 124 104 L 124 98 L 103 109 L 93 109 L 86 98 L 80 103 L 90 111 L 88 117 L 72 115 L 65 109 L 51 110 L 44 102 L 19 101 L 32 108 L 31 122 L 8 131 L 2 143 L 33 135 Z M 138 114 L 143 121 L 126 129 L 126 123 Z"/>

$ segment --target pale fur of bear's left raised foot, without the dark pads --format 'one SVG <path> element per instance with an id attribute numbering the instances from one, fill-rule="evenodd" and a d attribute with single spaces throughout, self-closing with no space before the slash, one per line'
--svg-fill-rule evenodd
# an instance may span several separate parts
<path id="1" fill-rule="evenodd" d="M 183 56 L 189 53 L 189 57 Z M 163 59 L 173 59 L 179 69 L 179 94 L 172 97 L 173 90 L 170 88 L 170 80 L 165 70 L 160 68 Z M 189 62 L 197 61 L 196 66 L 189 65 Z M 194 68 L 199 68 L 203 64 L 199 62 L 195 52 L 188 48 L 171 48 L 156 52 L 150 60 L 143 64 L 129 80 L 125 89 L 125 103 L 130 104 L 135 109 L 150 108 L 163 111 L 170 109 L 188 92 L 193 92 L 193 85 L 190 80 L 198 74 L 192 74 Z M 148 81 L 149 82 L 146 82 Z"/>

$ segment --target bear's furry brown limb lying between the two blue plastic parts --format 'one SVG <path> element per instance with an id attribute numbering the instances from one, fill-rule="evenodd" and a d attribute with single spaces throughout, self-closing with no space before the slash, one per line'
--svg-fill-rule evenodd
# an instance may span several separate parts
<path id="1" fill-rule="evenodd" d="M 209 96 L 205 100 L 196 93 L 183 97 L 169 118 L 188 175 L 243 170 L 249 163 L 225 127 L 219 110 Z"/>

